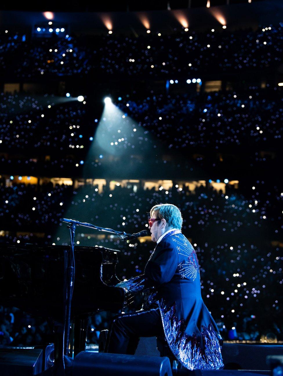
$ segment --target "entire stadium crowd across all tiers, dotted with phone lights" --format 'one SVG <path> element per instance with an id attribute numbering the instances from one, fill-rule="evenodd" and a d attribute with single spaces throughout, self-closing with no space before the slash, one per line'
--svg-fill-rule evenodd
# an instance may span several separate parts
<path id="1" fill-rule="evenodd" d="M 72 93 L 2 92 L 0 244 L 67 245 L 69 232 L 62 217 L 133 233 L 148 227 L 153 205 L 173 203 L 182 211 L 182 231 L 197 252 L 202 296 L 222 337 L 283 340 L 283 189 L 277 176 L 266 178 L 272 166 L 280 165 L 282 92 L 274 77 L 262 74 L 272 74 L 281 65 L 282 27 L 64 38 L 2 32 L 0 68 L 14 81 L 116 74 L 119 79 L 160 79 L 164 88 L 161 93 L 153 84 L 146 92 L 127 95 L 113 89 L 115 112 L 109 113 L 107 105 L 104 112 L 93 106 L 89 95 L 78 102 Z M 257 81 L 207 92 L 202 74 L 208 72 L 220 77 L 253 73 L 263 77 L 265 87 Z M 216 168 L 223 171 L 223 160 L 234 172 L 236 165 L 248 171 L 250 185 L 244 182 L 237 190 L 227 183 L 224 192 L 207 181 L 207 186 L 190 190 L 173 179 L 176 171 L 187 176 L 198 167 L 210 174 Z M 140 184 L 133 190 L 116 184 L 114 190 L 107 185 L 101 191 L 87 182 L 75 188 L 13 180 L 13 175 L 24 174 L 82 179 L 106 174 L 110 180 L 117 171 L 142 174 L 149 165 L 164 174 L 162 179 L 173 180 L 173 186 L 155 190 Z M 120 250 L 116 274 L 121 280 L 142 273 L 154 247 L 149 239 L 124 242 L 80 230 L 76 244 Z M 137 296 L 128 309 L 140 308 L 140 303 Z M 112 316 L 99 312 L 90 318 L 88 343 L 97 342 Z M 49 341 L 47 321 L 0 306 L 0 347 Z"/>

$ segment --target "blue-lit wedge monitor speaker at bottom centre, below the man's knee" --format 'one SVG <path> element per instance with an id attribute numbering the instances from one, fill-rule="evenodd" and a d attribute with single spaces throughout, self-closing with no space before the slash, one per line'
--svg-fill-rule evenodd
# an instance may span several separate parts
<path id="1" fill-rule="evenodd" d="M 72 376 L 172 376 L 167 357 L 82 351 L 75 356 Z"/>

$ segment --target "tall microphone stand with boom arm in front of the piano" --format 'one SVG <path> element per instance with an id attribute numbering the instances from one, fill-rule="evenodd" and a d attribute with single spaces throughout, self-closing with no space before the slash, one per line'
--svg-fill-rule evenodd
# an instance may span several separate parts
<path id="1" fill-rule="evenodd" d="M 90 227 L 99 231 L 105 231 L 112 234 L 115 234 L 119 237 L 129 236 L 124 231 L 116 231 L 105 227 L 98 227 L 91 223 L 84 223 L 80 221 L 74 221 L 72 219 L 60 218 L 60 221 L 68 223 L 67 228 L 70 229 L 70 254 L 66 252 L 67 255 L 67 273 L 66 278 L 64 279 L 64 302 L 65 302 L 65 312 L 64 312 L 64 340 L 63 340 L 63 355 L 69 356 L 69 341 L 70 341 L 70 318 L 71 318 L 71 303 L 74 287 L 74 278 L 75 278 L 75 230 L 76 226 Z"/>

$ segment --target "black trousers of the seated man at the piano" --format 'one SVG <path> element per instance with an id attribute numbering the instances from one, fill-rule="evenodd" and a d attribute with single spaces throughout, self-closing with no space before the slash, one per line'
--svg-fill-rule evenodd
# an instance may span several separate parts
<path id="1" fill-rule="evenodd" d="M 159 308 L 121 314 L 113 320 L 104 352 L 134 355 L 139 337 L 164 335 Z"/>

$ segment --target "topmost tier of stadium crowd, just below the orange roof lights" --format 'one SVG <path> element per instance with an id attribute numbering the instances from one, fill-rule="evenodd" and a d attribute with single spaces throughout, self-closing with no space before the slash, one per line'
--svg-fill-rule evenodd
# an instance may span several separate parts
<path id="1" fill-rule="evenodd" d="M 0 67 L 15 77 L 125 74 L 190 78 L 205 70 L 272 70 L 282 60 L 282 24 L 257 30 L 182 30 L 161 35 L 36 38 L 3 30 Z M 11 61 L 10 56 L 13 56 Z M 11 64 L 12 63 L 12 64 Z M 198 78 L 198 77 L 196 77 Z"/>

